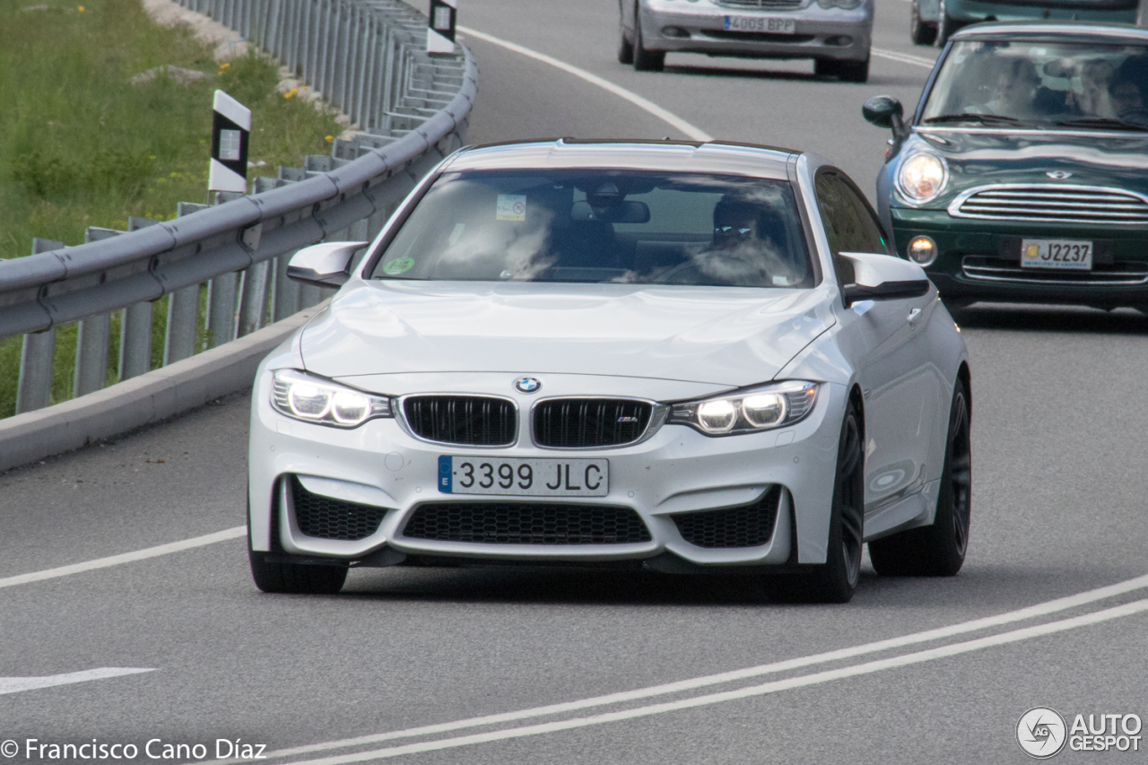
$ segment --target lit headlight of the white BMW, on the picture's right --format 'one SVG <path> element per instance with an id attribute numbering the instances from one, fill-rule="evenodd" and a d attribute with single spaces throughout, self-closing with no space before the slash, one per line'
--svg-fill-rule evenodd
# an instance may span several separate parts
<path id="1" fill-rule="evenodd" d="M 755 433 L 793 425 L 813 411 L 817 384 L 789 380 L 740 393 L 672 404 L 669 424 L 689 425 L 706 435 Z"/>

